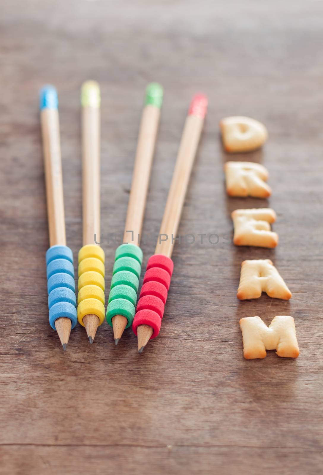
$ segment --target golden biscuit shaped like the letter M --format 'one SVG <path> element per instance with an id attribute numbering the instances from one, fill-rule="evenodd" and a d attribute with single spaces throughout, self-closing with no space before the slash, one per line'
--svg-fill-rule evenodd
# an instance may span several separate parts
<path id="1" fill-rule="evenodd" d="M 246 317 L 239 321 L 242 332 L 243 356 L 247 360 L 266 358 L 266 350 L 276 350 L 283 358 L 297 358 L 299 348 L 294 318 L 277 315 L 269 327 L 260 317 Z"/>

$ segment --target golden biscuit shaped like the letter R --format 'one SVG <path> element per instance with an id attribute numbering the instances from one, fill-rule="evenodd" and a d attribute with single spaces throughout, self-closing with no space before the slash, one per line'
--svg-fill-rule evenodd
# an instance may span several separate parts
<path id="1" fill-rule="evenodd" d="M 268 198 L 271 188 L 267 185 L 268 171 L 251 161 L 227 161 L 224 166 L 229 196 Z"/>

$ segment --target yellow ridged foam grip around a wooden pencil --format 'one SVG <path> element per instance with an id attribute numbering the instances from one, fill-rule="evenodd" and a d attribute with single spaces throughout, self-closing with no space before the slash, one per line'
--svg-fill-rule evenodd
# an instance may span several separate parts
<path id="1" fill-rule="evenodd" d="M 85 315 L 96 315 L 104 322 L 104 250 L 95 244 L 83 246 L 78 253 L 77 320 L 82 326 Z"/>

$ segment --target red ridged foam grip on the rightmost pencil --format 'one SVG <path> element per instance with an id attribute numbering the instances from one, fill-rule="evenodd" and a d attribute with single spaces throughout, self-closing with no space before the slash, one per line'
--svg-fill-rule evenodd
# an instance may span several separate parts
<path id="1" fill-rule="evenodd" d="M 151 339 L 158 335 L 173 269 L 173 261 L 162 254 L 155 254 L 148 260 L 137 311 L 133 319 L 135 334 L 139 325 L 149 325 L 153 329 Z"/>

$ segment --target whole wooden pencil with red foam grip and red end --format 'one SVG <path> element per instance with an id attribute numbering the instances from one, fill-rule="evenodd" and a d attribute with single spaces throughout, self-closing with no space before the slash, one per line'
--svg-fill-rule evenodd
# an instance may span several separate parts
<path id="1" fill-rule="evenodd" d="M 138 337 L 139 353 L 143 351 L 148 341 L 156 338 L 160 332 L 161 319 L 174 267 L 171 260 L 174 238 L 180 223 L 180 215 L 202 132 L 207 104 L 205 95 L 193 97 L 184 125 L 155 254 L 148 260 L 133 320 L 133 331 Z"/>

